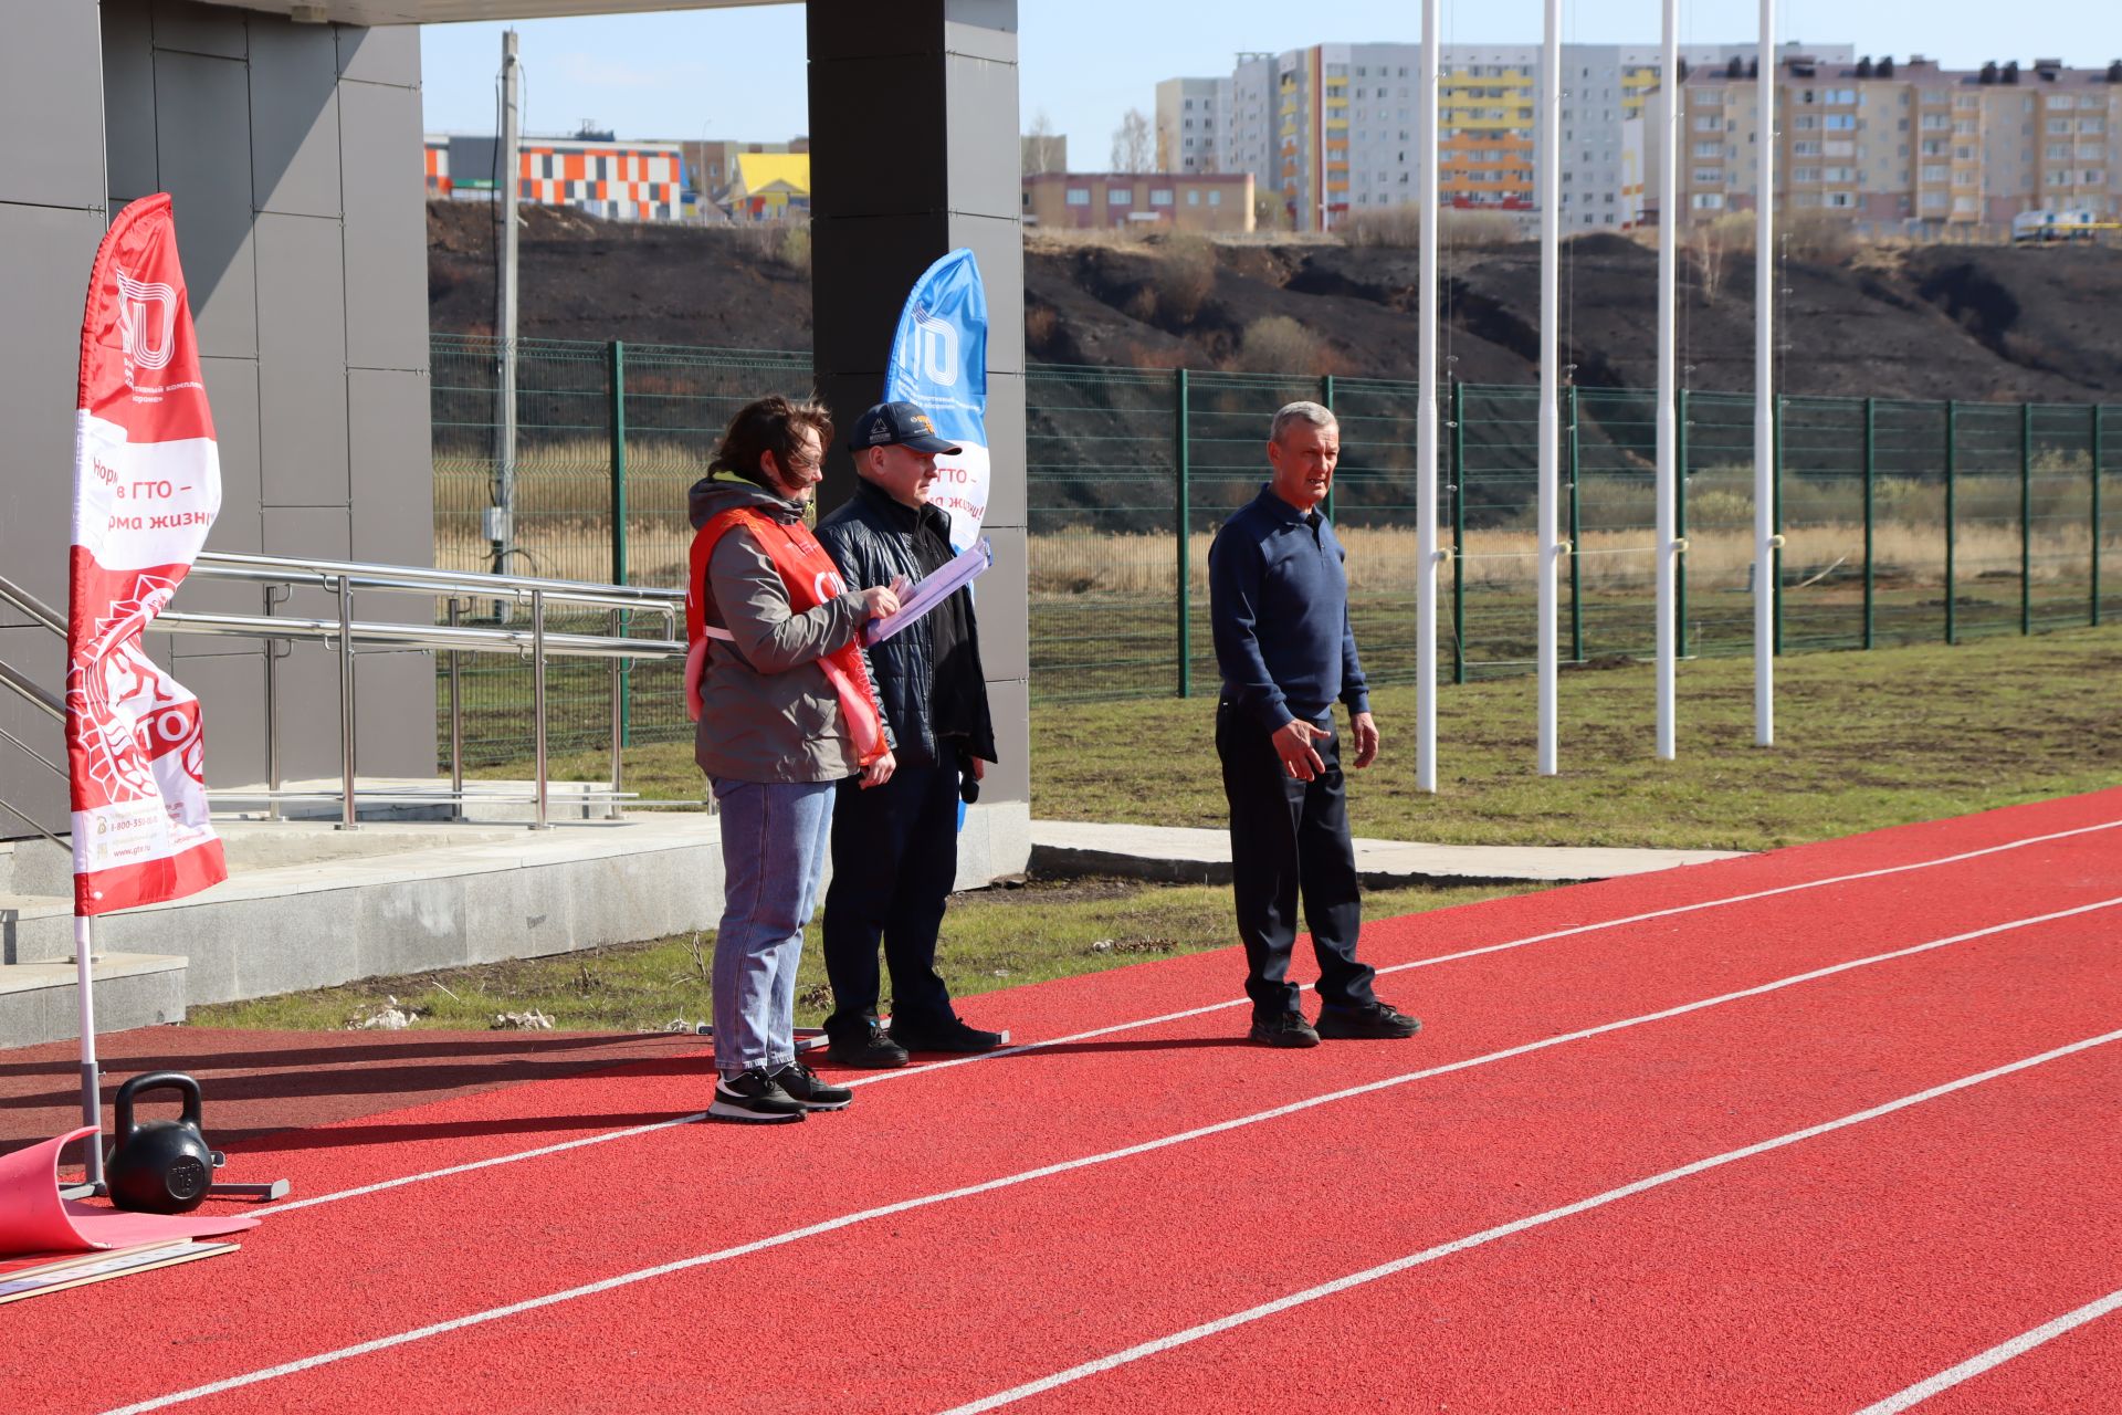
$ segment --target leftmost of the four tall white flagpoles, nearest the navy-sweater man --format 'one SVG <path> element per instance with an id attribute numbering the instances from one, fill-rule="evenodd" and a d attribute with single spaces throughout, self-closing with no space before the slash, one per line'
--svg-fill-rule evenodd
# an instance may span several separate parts
<path id="1" fill-rule="evenodd" d="M 1422 0 L 1422 299 L 1415 327 L 1415 789 L 1437 791 L 1437 0 Z"/>

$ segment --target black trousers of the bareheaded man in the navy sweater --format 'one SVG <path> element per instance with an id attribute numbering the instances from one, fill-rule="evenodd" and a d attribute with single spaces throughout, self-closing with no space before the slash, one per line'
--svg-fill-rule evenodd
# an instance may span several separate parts
<path id="1" fill-rule="evenodd" d="M 1333 728 L 1333 717 L 1320 726 Z M 1326 770 L 1297 781 L 1282 770 L 1282 757 L 1258 723 L 1229 704 L 1216 709 L 1216 755 L 1222 757 L 1222 793 L 1231 802 L 1231 893 L 1237 897 L 1237 936 L 1246 944 L 1246 995 L 1252 997 L 1254 1018 L 1299 1010 L 1297 986 L 1288 980 L 1299 895 L 1320 961 L 1320 999 L 1347 1008 L 1375 1001 L 1373 972 L 1356 961 L 1362 902 L 1356 846 L 1347 834 L 1341 734 L 1311 747 Z"/>

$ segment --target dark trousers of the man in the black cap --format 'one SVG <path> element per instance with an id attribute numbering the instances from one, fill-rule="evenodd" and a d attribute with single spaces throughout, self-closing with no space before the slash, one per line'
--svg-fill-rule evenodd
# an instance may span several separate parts
<path id="1" fill-rule="evenodd" d="M 891 1023 L 951 1020 L 936 974 L 936 933 L 957 878 L 957 770 L 902 766 L 881 787 L 842 781 L 832 813 L 832 885 L 825 889 L 825 1033 L 862 1037 L 876 1023 L 883 942 L 891 969 Z"/>

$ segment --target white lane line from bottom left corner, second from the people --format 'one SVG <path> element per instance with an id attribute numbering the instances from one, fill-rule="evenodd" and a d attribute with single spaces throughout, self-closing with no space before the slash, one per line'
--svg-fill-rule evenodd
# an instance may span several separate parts
<path id="1" fill-rule="evenodd" d="M 651 1281 L 656 1277 L 668 1277 L 671 1273 L 683 1273 L 690 1269 L 709 1266 L 713 1262 L 728 1262 L 732 1258 L 745 1258 L 749 1254 L 766 1252 L 770 1247 L 785 1247 L 787 1243 L 800 1243 L 802 1239 L 815 1239 L 825 1233 L 838 1233 L 840 1228 L 853 1228 L 855 1224 L 866 1224 L 879 1218 L 891 1218 L 895 1213 L 908 1213 L 912 1209 L 927 1209 L 940 1203 L 951 1203 L 957 1199 L 972 1199 L 976 1194 L 993 1194 L 995 1190 L 1016 1188 L 1019 1184 L 1031 1184 L 1033 1180 L 1050 1180 L 1053 1175 L 1072 1173 L 1076 1169 L 1091 1169 L 1095 1165 L 1110 1165 L 1114 1160 L 1133 1158 L 1137 1154 L 1152 1154 L 1156 1150 L 1169 1150 L 1173 1146 L 1184 1146 L 1195 1139 L 1205 1139 L 1210 1135 L 1222 1135 L 1229 1131 L 1239 1131 L 1254 1124 L 1265 1124 L 1269 1120 L 1282 1120 L 1284 1116 L 1294 1116 L 1299 1112 L 1316 1110 L 1320 1105 L 1333 1105 L 1335 1101 L 1347 1101 L 1352 1097 L 1373 1095 L 1379 1090 L 1390 1090 L 1394 1086 L 1407 1086 L 1411 1082 L 1432 1080 L 1437 1076 L 1451 1076 L 1454 1071 L 1468 1071 L 1473 1067 L 1492 1065 L 1498 1061 L 1509 1061 L 1513 1056 L 1526 1056 L 1530 1052 L 1543 1052 L 1551 1046 L 1564 1046 L 1568 1042 L 1583 1042 L 1585 1037 L 1598 1037 L 1608 1031 L 1623 1031 L 1628 1027 L 1642 1027 L 1645 1023 L 1659 1023 L 1674 1016 L 1685 1016 L 1687 1012 L 1702 1012 L 1704 1008 L 1717 1008 L 1729 1001 L 1740 1001 L 1746 997 L 1761 997 L 1766 993 L 1778 993 L 1802 982 L 1814 982 L 1819 978 L 1829 978 L 1833 974 L 1846 974 L 1857 967 L 1869 967 L 1874 963 L 1891 963 L 1895 959 L 1906 959 L 1918 953 L 1931 953 L 1933 948 L 1946 948 L 1950 944 L 1963 944 L 1973 938 L 1988 938 L 1995 933 L 2010 933 L 2012 929 L 2029 929 L 2041 923 L 2054 923 L 2056 919 L 2073 919 L 2077 914 L 2090 914 L 2103 908 L 2122 906 L 2122 895 L 2114 899 L 2101 899 L 2099 904 L 2082 904 L 2077 908 L 2056 910 L 2052 914 L 2035 914 L 2033 919 L 2014 919 L 2012 923 L 1990 925 L 1986 929 L 1973 929 L 1971 933 L 1954 933 L 1950 938 L 1935 938 L 1925 944 L 1914 944 L 1910 948 L 1895 948 L 1893 953 L 1880 953 L 1869 959 L 1853 959 L 1848 963 L 1833 963 L 1829 967 L 1816 967 L 1812 972 L 1793 974 L 1789 978 L 1778 978 L 1774 982 L 1763 982 L 1738 993 L 1721 993 L 1717 997 L 1704 997 L 1702 1001 L 1681 1003 L 1676 1008 L 1664 1008 L 1662 1012 L 1645 1012 L 1642 1016 L 1628 1016 L 1617 1023 L 1600 1023 L 1598 1027 L 1585 1027 L 1581 1031 L 1568 1031 L 1553 1037 L 1543 1037 L 1541 1042 L 1524 1042 L 1519 1046 L 1504 1048 L 1500 1052 L 1488 1052 L 1485 1056 L 1468 1056 L 1464 1061 L 1451 1061 L 1439 1067 L 1424 1067 L 1420 1071 L 1405 1071 L 1401 1076 L 1388 1076 L 1384 1080 L 1364 1082 L 1360 1086 L 1347 1086 L 1343 1090 L 1330 1090 L 1326 1095 L 1307 1097 L 1303 1101 L 1290 1101 L 1288 1105 L 1275 1105 L 1273 1110 L 1254 1112 L 1250 1116 L 1235 1116 L 1231 1120 L 1218 1120 L 1214 1124 L 1203 1124 L 1193 1131 L 1180 1131 L 1178 1135 L 1161 1135 L 1159 1139 L 1144 1139 L 1133 1146 L 1123 1146 L 1118 1150 L 1106 1150 L 1101 1154 L 1084 1154 L 1072 1160 L 1059 1160 L 1055 1165 L 1040 1165 L 1038 1169 L 1025 1169 L 1012 1175 L 1002 1175 L 999 1180 L 982 1180 L 980 1184 L 966 1184 L 959 1188 L 942 1190 L 936 1194 L 921 1194 L 917 1199 L 900 1199 L 898 1203 L 879 1205 L 874 1209 L 857 1209 L 853 1213 L 842 1213 L 838 1218 L 828 1218 L 802 1228 L 789 1228 L 785 1233 L 775 1233 L 751 1243 L 741 1243 L 736 1247 L 721 1247 L 709 1254 L 694 1254 L 690 1258 L 677 1258 L 673 1262 L 660 1262 L 649 1269 L 637 1269 L 632 1273 L 620 1273 L 615 1277 L 605 1277 L 601 1281 L 584 1283 L 579 1288 L 564 1288 L 560 1292 L 547 1292 L 545 1296 L 526 1298 L 522 1303 L 509 1303 L 507 1307 L 488 1307 L 486 1311 L 473 1311 L 463 1317 L 452 1317 L 448 1322 L 435 1322 L 433 1326 L 420 1326 L 410 1332 L 395 1332 L 390 1337 L 378 1337 L 373 1341 L 363 1341 L 350 1347 L 340 1347 L 335 1351 L 323 1351 L 318 1356 L 306 1356 L 301 1360 L 284 1362 L 280 1366 L 267 1366 L 263 1370 L 253 1370 L 248 1375 L 227 1377 L 223 1381 L 212 1381 L 208 1385 L 195 1385 L 191 1390 L 180 1390 L 170 1396 L 157 1396 L 155 1400 L 144 1400 L 140 1404 L 127 1404 L 119 1411 L 108 1411 L 106 1415 L 136 1415 L 138 1411 L 159 1411 L 172 1404 L 182 1404 L 187 1400 L 199 1400 L 204 1396 L 219 1396 L 229 1390 L 240 1390 L 244 1385 L 257 1385 L 259 1381 L 272 1381 L 282 1375 L 295 1375 L 299 1370 L 314 1370 L 318 1366 L 329 1366 L 333 1362 L 352 1360 L 354 1356 L 369 1356 L 373 1351 L 386 1351 L 390 1347 L 401 1347 L 412 1341 L 424 1341 L 429 1337 L 441 1337 L 443 1332 L 456 1332 L 467 1326 L 482 1326 L 486 1322 L 499 1322 L 503 1317 L 514 1317 L 526 1311 L 537 1311 L 539 1307 L 554 1307 L 558 1303 L 571 1303 L 584 1296 L 596 1296 L 598 1292 L 611 1292 L 613 1288 L 628 1288 L 639 1281 Z M 2122 1033 L 2118 1033 L 2122 1035 Z"/>

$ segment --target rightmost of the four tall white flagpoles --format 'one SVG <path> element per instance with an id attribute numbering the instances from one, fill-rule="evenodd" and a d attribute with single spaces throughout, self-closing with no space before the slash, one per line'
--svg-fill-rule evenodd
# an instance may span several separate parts
<path id="1" fill-rule="evenodd" d="M 1776 745 L 1776 0 L 1761 0 L 1753 238 L 1753 745 Z"/>

